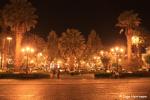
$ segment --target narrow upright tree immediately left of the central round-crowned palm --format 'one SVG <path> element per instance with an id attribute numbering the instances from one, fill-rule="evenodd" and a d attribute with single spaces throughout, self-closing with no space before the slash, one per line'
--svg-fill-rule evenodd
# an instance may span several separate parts
<path id="1" fill-rule="evenodd" d="M 51 31 L 49 33 L 47 51 L 48 59 L 50 61 L 53 61 L 55 58 L 58 57 L 58 37 L 55 31 Z"/>

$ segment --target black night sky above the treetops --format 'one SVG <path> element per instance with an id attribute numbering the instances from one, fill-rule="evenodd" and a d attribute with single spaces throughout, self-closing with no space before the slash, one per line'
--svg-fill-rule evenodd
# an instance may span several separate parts
<path id="1" fill-rule="evenodd" d="M 142 26 L 150 29 L 148 0 L 30 0 L 37 8 L 38 25 L 33 30 L 42 37 L 53 29 L 58 34 L 67 28 L 77 28 L 85 36 L 95 29 L 104 44 L 122 40 L 115 27 L 122 11 L 135 10 L 142 18 Z M 8 0 L 0 0 L 2 7 Z"/>

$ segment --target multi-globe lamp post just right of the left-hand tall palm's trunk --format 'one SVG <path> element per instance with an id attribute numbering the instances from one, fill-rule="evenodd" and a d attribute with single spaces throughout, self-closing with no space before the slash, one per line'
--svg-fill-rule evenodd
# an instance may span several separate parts
<path id="1" fill-rule="evenodd" d="M 34 49 L 30 48 L 30 47 L 25 47 L 25 48 L 22 48 L 22 52 L 25 53 L 25 55 L 27 56 L 26 74 L 28 74 L 28 69 L 29 69 L 29 55 L 31 53 L 34 53 Z"/>

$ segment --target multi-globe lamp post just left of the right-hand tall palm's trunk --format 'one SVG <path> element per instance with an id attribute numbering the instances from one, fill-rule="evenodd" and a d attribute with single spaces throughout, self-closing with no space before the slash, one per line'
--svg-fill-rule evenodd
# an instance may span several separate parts
<path id="1" fill-rule="evenodd" d="M 110 50 L 112 52 L 112 54 L 115 55 L 115 61 L 117 64 L 117 71 L 119 71 L 119 62 L 121 61 L 121 59 L 119 59 L 119 56 L 124 52 L 123 48 L 120 47 L 115 47 L 115 48 L 111 48 Z"/>

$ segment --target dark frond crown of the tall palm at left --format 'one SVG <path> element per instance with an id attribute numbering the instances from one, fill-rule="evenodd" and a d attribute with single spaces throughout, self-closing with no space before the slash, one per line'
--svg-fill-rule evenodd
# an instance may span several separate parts
<path id="1" fill-rule="evenodd" d="M 10 26 L 12 30 L 22 27 L 24 30 L 29 31 L 37 23 L 38 17 L 35 11 L 36 9 L 28 0 L 10 0 L 10 3 L 2 11 L 2 17 L 4 23 Z"/>

